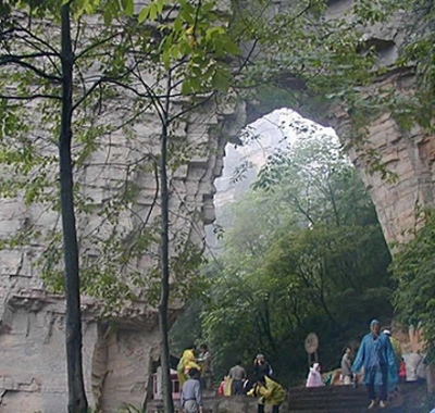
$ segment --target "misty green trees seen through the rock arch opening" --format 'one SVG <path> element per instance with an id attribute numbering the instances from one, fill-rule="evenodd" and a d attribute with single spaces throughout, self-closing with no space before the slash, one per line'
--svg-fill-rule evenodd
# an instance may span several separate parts
<path id="1" fill-rule="evenodd" d="M 282 383 L 300 384 L 308 333 L 320 336 L 324 370 L 336 368 L 371 317 L 389 320 L 390 256 L 362 183 L 327 137 L 271 158 L 254 187 L 207 267 L 202 339 L 220 376 L 264 352 Z"/>

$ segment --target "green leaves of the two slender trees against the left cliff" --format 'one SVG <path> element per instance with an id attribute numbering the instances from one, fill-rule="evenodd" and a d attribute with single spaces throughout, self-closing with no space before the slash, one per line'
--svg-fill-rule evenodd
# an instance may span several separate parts
<path id="1" fill-rule="evenodd" d="M 0 37 L 0 162 L 4 172 L 0 193 L 22 198 L 29 209 L 40 208 L 42 220 L 50 217 L 54 226 L 41 227 L 38 220 L 30 220 L 29 225 L 1 245 L 45 245 L 37 264 L 53 291 L 63 290 L 62 240 L 55 227 L 60 211 L 55 145 L 61 98 L 58 28 L 64 3 L 5 1 L 0 15 L 4 33 L 20 34 Z M 224 58 L 237 54 L 238 48 L 227 33 L 226 17 L 217 15 L 214 1 L 182 0 L 169 4 L 158 0 L 135 8 L 133 0 L 74 0 L 71 14 L 74 190 L 83 292 L 101 299 L 109 313 L 125 302 L 144 299 L 138 290 L 156 305 L 161 230 L 154 210 L 159 187 L 149 211 L 139 208 L 137 213 L 141 188 L 135 177 L 150 174 L 157 179 L 159 154 L 139 148 L 133 125 L 148 122 L 149 114 L 162 118 L 165 99 L 174 101 L 178 105 L 170 105 L 171 113 L 164 113 L 171 172 L 202 154 L 207 148 L 195 148 L 175 130 L 183 128 L 183 115 L 188 115 L 190 105 L 196 108 L 208 95 L 226 90 L 231 67 Z M 24 16 L 29 16 L 28 21 Z M 39 21 L 47 16 L 51 32 Z M 162 85 L 169 73 L 171 85 L 165 93 Z M 124 101 L 126 93 L 128 105 Z M 185 105 L 177 102 L 182 95 L 186 95 Z M 130 159 L 125 162 L 120 161 L 119 154 L 112 157 L 117 151 L 112 139 L 117 140 L 120 135 L 126 148 L 132 148 Z M 119 171 L 117 176 L 114 170 Z M 107 193 L 96 197 L 92 192 L 104 179 L 109 185 L 103 189 Z M 189 212 L 192 217 L 197 213 Z M 133 229 L 124 225 L 127 214 L 135 216 Z M 201 285 L 200 277 L 197 283 L 191 281 L 202 262 L 201 251 L 189 241 L 187 233 L 181 231 L 172 240 L 171 271 L 179 280 L 172 290 L 174 299 L 195 292 Z M 138 260 L 148 263 L 146 271 L 137 270 Z"/>

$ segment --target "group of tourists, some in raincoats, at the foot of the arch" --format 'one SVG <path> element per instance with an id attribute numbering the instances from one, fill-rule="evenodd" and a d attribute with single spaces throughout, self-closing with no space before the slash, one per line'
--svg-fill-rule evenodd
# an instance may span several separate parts
<path id="1" fill-rule="evenodd" d="M 185 413 L 201 413 L 201 388 L 212 389 L 213 372 L 208 347 L 206 345 L 200 347 L 198 358 L 195 356 L 195 346 L 188 347 L 177 366 Z M 377 403 L 381 409 L 385 409 L 388 395 L 395 393 L 399 381 L 407 380 L 407 371 L 410 371 L 410 374 L 414 372 L 417 377 L 417 367 L 422 364 L 420 354 L 410 354 L 408 361 L 409 365 L 403 360 L 399 341 L 391 336 L 389 329 L 381 331 L 380 322 L 373 320 L 370 324 L 370 333 L 363 337 L 353 362 L 352 350 L 346 347 L 341 359 L 341 383 L 357 385 L 357 375 L 362 371 L 362 383 L 366 386 L 370 399 L 369 410 L 374 409 Z M 251 380 L 241 362 L 238 361 L 222 381 L 217 393 L 253 396 L 258 398 L 258 413 L 264 412 L 265 404 L 272 406 L 273 413 L 278 413 L 279 405 L 285 399 L 285 390 L 272 378 L 272 375 L 273 370 L 264 354 L 258 354 L 253 360 L 253 379 Z M 412 378 L 409 377 L 409 379 Z M 306 386 L 324 386 L 319 363 L 313 363 L 310 367 Z"/>

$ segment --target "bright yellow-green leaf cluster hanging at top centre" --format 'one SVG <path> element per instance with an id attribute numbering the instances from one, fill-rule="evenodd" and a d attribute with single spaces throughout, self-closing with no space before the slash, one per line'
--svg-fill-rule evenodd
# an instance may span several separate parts
<path id="1" fill-rule="evenodd" d="M 153 49 L 152 59 L 165 70 L 177 67 L 174 76 L 183 95 L 227 90 L 233 77 L 227 58 L 239 54 L 239 49 L 225 18 L 217 15 L 217 3 L 181 0 L 178 8 L 171 8 L 167 12 L 169 4 L 158 0 L 140 11 L 139 22 L 149 21 L 160 34 L 158 48 L 151 43 L 145 50 Z"/>

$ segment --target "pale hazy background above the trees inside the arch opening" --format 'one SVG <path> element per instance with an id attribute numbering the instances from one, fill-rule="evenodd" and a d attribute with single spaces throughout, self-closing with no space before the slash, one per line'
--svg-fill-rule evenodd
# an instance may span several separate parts
<path id="1" fill-rule="evenodd" d="M 337 149 L 340 147 L 332 127 L 303 117 L 293 109 L 282 108 L 249 123 L 237 139 L 226 145 L 222 176 L 214 183 L 216 220 L 206 226 L 207 247 L 210 251 L 219 251 L 220 234 L 232 224 L 228 212 L 231 205 L 252 186 L 268 162 L 279 155 L 288 155 L 297 141 L 320 139 L 322 136 Z"/>

